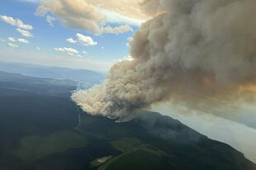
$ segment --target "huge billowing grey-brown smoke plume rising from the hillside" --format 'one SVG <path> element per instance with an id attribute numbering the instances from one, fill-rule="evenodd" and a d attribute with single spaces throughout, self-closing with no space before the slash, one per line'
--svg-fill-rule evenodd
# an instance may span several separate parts
<path id="1" fill-rule="evenodd" d="M 144 4 L 155 17 L 131 40 L 133 60 L 112 66 L 102 85 L 73 93 L 83 111 L 124 119 L 166 100 L 197 107 L 255 102 L 255 0 Z"/>

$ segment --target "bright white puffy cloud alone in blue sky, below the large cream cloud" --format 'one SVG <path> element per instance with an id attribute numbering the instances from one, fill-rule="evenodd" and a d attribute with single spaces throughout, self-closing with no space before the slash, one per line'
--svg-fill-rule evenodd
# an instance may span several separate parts
<path id="1" fill-rule="evenodd" d="M 73 38 L 69 38 L 69 39 L 67 39 L 67 41 L 69 43 L 85 45 L 85 46 L 97 45 L 97 42 L 92 40 L 92 37 L 90 37 L 90 36 L 82 35 L 79 33 L 77 33 L 76 36 L 77 36 L 76 40 L 73 40 Z"/>

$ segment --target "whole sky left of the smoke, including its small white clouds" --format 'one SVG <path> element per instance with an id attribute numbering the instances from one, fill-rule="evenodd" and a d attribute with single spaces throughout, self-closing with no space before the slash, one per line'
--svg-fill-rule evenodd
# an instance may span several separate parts
<path id="1" fill-rule="evenodd" d="M 80 14 L 72 11 L 59 14 L 55 9 L 45 12 L 41 10 L 44 8 L 42 3 L 39 0 L 2 1 L 0 60 L 107 72 L 112 64 L 129 57 L 128 41 L 143 21 L 125 17 L 107 7 L 94 7 L 103 19 L 93 18 L 92 14 L 88 20 L 80 21 L 86 26 L 75 26 Z M 83 8 L 88 7 L 80 10 Z M 64 18 L 72 15 L 72 20 L 78 21 Z M 94 20 L 95 23 L 104 22 L 98 24 L 102 30 L 90 27 L 90 24 L 95 25 Z"/>

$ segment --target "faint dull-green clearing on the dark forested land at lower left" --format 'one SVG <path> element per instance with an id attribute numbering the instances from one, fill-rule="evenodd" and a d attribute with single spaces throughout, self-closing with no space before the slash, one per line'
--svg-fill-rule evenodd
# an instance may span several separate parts
<path id="1" fill-rule="evenodd" d="M 51 153 L 61 153 L 72 148 L 84 148 L 87 139 L 74 131 L 64 130 L 46 137 L 33 135 L 21 139 L 21 148 L 13 153 L 28 162 L 36 161 Z"/>

